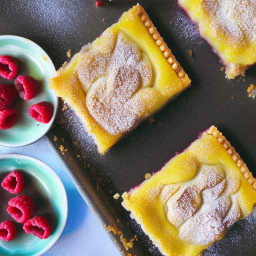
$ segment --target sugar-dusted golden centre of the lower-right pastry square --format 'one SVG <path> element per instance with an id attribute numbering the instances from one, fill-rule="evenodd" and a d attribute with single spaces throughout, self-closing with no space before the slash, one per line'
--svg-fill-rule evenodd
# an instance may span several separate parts
<path id="1" fill-rule="evenodd" d="M 171 191 L 165 206 L 166 215 L 178 228 L 182 240 L 208 244 L 241 217 L 235 197 L 239 182 L 227 182 L 219 164 L 202 165 L 192 180 L 167 186 L 168 189 L 162 189 L 160 198 L 163 201 L 162 197 L 168 196 L 166 191 Z"/>

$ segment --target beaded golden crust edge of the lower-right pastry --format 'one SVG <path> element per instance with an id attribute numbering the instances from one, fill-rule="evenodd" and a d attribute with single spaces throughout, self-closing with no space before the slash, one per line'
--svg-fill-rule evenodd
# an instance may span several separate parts
<path id="1" fill-rule="evenodd" d="M 222 146 L 226 149 L 227 154 L 232 157 L 232 160 L 236 163 L 236 166 L 240 169 L 244 178 L 247 179 L 249 184 L 252 185 L 253 189 L 256 190 L 256 178 L 252 176 L 252 173 L 249 171 L 246 163 L 243 162 L 240 155 L 235 151 L 234 147 L 231 146 L 230 142 L 223 136 L 222 132 L 220 132 L 217 127 L 211 125 L 208 129 L 206 129 L 206 133 L 208 135 L 214 136 L 217 141 L 222 144 Z"/>

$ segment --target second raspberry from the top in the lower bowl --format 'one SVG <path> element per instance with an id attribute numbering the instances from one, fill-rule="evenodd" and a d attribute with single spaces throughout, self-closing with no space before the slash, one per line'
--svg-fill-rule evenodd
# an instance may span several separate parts
<path id="1" fill-rule="evenodd" d="M 24 223 L 33 214 L 34 203 L 26 194 L 13 197 L 8 201 L 7 212 L 17 222 Z"/>

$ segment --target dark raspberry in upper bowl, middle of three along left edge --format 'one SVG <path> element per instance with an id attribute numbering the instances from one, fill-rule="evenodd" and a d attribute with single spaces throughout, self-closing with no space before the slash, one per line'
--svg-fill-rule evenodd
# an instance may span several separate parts
<path id="1" fill-rule="evenodd" d="M 9 84 L 0 84 L 0 110 L 9 107 L 17 96 L 15 88 Z"/>

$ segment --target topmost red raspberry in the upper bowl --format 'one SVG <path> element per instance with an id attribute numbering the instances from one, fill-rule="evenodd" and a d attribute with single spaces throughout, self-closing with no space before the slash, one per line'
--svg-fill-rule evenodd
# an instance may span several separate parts
<path id="1" fill-rule="evenodd" d="M 0 56 L 0 76 L 5 79 L 12 79 L 18 73 L 18 66 L 13 57 Z"/>

